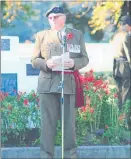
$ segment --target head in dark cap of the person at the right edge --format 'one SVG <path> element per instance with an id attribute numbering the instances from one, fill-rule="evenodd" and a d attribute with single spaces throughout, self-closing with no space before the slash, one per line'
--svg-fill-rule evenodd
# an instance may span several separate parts
<path id="1" fill-rule="evenodd" d="M 126 31 L 131 31 L 131 17 L 130 16 L 123 16 L 120 20 L 120 24 Z"/>

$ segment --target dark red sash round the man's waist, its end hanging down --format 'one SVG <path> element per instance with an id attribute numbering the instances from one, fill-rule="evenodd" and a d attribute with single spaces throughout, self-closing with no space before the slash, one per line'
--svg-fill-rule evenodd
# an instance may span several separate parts
<path id="1" fill-rule="evenodd" d="M 61 71 L 55 71 L 58 74 L 61 74 Z M 84 91 L 82 87 L 82 82 L 80 79 L 80 73 L 78 70 L 76 71 L 64 71 L 64 74 L 73 74 L 76 83 L 76 107 L 84 106 Z"/>

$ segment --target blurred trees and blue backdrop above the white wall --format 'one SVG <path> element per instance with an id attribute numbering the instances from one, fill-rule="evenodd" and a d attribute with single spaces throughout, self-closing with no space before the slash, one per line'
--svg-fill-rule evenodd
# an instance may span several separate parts
<path id="1" fill-rule="evenodd" d="M 32 43 L 36 32 L 48 29 L 45 13 L 61 5 L 67 25 L 81 30 L 88 43 L 108 43 L 119 28 L 121 16 L 131 15 L 131 1 L 2 1 L 1 35 L 18 36 L 20 43 Z"/>

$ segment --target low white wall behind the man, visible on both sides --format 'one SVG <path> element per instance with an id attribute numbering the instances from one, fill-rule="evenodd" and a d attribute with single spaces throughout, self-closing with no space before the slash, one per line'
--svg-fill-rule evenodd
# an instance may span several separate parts
<path id="1" fill-rule="evenodd" d="M 26 64 L 31 64 L 34 44 L 19 43 L 19 38 L 15 36 L 2 36 L 2 40 L 6 39 L 9 40 L 10 49 L 4 50 L 4 44 L 1 50 L 1 73 L 17 73 L 18 91 L 36 90 L 38 76 L 26 75 Z M 81 72 L 90 69 L 95 72 L 112 71 L 113 51 L 110 44 L 86 44 L 86 48 L 90 62 Z"/>

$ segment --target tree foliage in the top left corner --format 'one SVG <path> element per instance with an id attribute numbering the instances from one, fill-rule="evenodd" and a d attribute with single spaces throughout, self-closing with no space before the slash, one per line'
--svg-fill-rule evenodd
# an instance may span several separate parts
<path id="1" fill-rule="evenodd" d="M 27 21 L 31 16 L 35 15 L 32 10 L 31 3 L 22 1 L 1 1 L 1 27 L 13 27 L 15 19 Z"/>

